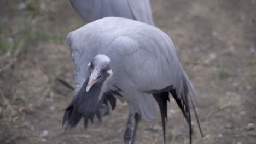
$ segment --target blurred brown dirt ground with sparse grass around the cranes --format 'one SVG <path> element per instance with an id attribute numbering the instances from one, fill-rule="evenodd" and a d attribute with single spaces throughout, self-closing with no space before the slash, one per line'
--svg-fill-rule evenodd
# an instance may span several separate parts
<path id="1" fill-rule="evenodd" d="M 256 143 L 256 1 L 151 1 L 156 26 L 176 45 L 198 94 L 193 143 Z M 127 105 L 102 122 L 61 129 L 73 92 L 66 35 L 84 25 L 67 0 L 0 1 L 0 143 L 123 143 Z M 254 127 L 253 127 L 254 126 Z M 167 142 L 189 143 L 188 125 L 168 103 Z M 160 115 L 139 125 L 136 143 L 162 143 Z"/>

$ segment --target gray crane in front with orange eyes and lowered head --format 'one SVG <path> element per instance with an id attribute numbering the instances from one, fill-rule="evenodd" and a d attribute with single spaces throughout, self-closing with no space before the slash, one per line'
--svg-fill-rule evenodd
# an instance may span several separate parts
<path id="1" fill-rule="evenodd" d="M 167 34 L 146 23 L 105 17 L 69 33 L 67 42 L 74 63 L 75 96 L 65 109 L 62 126 L 67 123 L 67 128 L 75 127 L 82 117 L 95 115 L 104 95 L 114 95 L 129 105 L 124 141 L 135 143 L 141 119 L 151 121 L 157 116 L 155 98 L 165 142 L 170 92 L 187 119 L 192 142 L 189 98 L 193 108 L 194 104 L 189 92 L 195 100 L 196 95 Z"/>

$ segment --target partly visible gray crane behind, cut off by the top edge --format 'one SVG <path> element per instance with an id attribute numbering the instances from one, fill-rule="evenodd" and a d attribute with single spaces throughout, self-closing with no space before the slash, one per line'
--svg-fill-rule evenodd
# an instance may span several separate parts
<path id="1" fill-rule="evenodd" d="M 85 22 L 103 17 L 125 17 L 154 26 L 149 0 L 69 0 Z"/>

